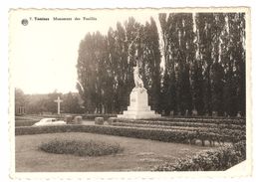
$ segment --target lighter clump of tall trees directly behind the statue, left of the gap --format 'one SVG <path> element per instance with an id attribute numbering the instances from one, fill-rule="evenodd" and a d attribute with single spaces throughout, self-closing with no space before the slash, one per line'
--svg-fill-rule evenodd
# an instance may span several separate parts
<path id="1" fill-rule="evenodd" d="M 134 87 L 133 67 L 139 60 L 139 73 L 148 90 L 149 103 L 159 108 L 160 50 L 155 21 L 142 25 L 129 18 L 123 26 L 87 34 L 81 41 L 77 64 L 77 88 L 89 112 L 119 113 L 128 106 Z"/>

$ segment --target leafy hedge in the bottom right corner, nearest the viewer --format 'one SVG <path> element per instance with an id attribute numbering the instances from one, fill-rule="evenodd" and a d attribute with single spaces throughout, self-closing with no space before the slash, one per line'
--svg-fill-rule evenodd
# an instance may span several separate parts
<path id="1" fill-rule="evenodd" d="M 246 142 L 226 145 L 153 167 L 153 171 L 222 171 L 246 159 Z"/>

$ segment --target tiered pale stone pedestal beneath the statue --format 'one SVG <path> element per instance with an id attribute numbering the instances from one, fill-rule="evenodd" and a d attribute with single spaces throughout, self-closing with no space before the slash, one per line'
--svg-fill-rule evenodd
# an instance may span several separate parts
<path id="1" fill-rule="evenodd" d="M 156 114 L 154 110 L 150 109 L 147 91 L 143 88 L 134 88 L 130 92 L 128 110 L 118 115 L 119 118 L 131 119 L 156 118 L 160 116 L 160 114 Z"/>

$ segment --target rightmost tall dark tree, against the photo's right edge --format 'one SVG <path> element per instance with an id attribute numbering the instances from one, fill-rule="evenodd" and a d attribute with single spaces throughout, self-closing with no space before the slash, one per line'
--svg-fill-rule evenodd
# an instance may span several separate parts
<path id="1" fill-rule="evenodd" d="M 222 37 L 222 63 L 225 71 L 225 110 L 234 116 L 245 115 L 245 14 L 225 14 Z"/>

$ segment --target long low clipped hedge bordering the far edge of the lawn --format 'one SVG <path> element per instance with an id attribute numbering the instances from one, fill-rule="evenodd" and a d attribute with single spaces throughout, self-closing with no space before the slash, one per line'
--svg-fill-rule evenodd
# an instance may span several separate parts
<path id="1" fill-rule="evenodd" d="M 40 134 L 40 133 L 55 133 L 55 132 L 92 132 L 99 134 L 110 134 L 118 136 L 127 136 L 134 138 L 144 138 L 159 140 L 165 142 L 178 142 L 178 143 L 191 143 L 195 139 L 202 141 L 229 141 L 236 142 L 230 135 L 221 135 L 211 132 L 197 132 L 197 131 L 185 131 L 185 130 L 166 130 L 158 128 L 137 128 L 137 127 L 117 127 L 106 125 L 55 125 L 55 126 L 31 126 L 31 127 L 16 127 L 15 134 Z"/>

